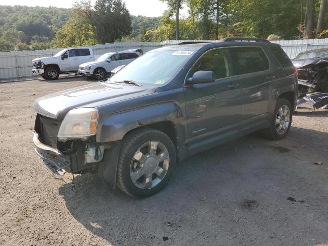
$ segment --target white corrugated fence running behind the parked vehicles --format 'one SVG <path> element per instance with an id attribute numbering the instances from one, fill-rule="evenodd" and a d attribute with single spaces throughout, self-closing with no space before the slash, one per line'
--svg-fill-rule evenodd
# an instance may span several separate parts
<path id="1" fill-rule="evenodd" d="M 139 42 L 139 43 L 114 43 L 91 46 L 95 55 L 101 55 L 111 51 L 122 51 L 133 48 L 141 48 L 144 52 L 175 45 L 181 42 L 192 40 L 166 40 L 164 42 Z M 214 40 L 208 40 L 217 42 Z M 328 48 L 328 38 L 324 39 L 304 39 L 304 40 L 280 40 L 272 41 L 272 43 L 280 44 L 283 50 L 290 58 L 306 50 L 319 48 Z M 32 60 L 38 57 L 52 56 L 62 49 L 47 49 L 33 51 L 10 51 L 0 52 L 0 82 L 19 81 L 36 78 L 32 73 Z"/>

